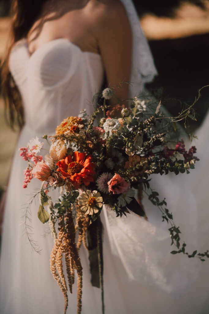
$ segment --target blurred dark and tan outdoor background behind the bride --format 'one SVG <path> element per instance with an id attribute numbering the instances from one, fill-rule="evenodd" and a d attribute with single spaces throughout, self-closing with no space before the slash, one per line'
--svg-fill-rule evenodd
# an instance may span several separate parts
<path id="1" fill-rule="evenodd" d="M 193 103 L 198 89 L 209 84 L 209 3 L 208 1 L 134 0 L 144 34 L 154 57 L 159 76 L 146 87 L 152 92 L 161 90 L 163 97 Z M 10 1 L 0 0 L 0 60 L 7 47 L 10 29 Z M 202 91 L 196 104 L 201 124 L 209 106 L 209 89 Z M 172 114 L 179 108 L 168 103 Z M 9 169 L 18 137 L 5 122 L 0 94 L 0 191 L 7 185 Z"/>

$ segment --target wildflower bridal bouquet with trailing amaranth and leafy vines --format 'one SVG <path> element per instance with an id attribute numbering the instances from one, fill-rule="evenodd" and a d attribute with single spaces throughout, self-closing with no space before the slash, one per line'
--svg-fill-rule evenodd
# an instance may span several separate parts
<path id="1" fill-rule="evenodd" d="M 90 252 L 97 249 L 99 281 L 92 275 L 92 284 L 102 288 L 102 225 L 99 218 L 102 208 L 107 205 L 109 210 L 115 211 L 116 217 L 132 211 L 147 219 L 142 205 L 143 189 L 161 210 L 163 220 L 170 223 L 171 241 L 177 247 L 171 253 L 182 252 L 201 260 L 208 255 L 208 251 L 204 254 L 185 252 L 186 245 L 180 246 L 180 230 L 166 208 L 165 199 L 159 200 L 159 194 L 149 186 L 150 174 L 174 172 L 178 175 L 194 168 L 198 160 L 194 156 L 195 146 L 187 151 L 183 139 L 175 143 L 172 139 L 176 121 L 194 118 L 191 106 L 178 117 L 165 118 L 161 103 L 157 105 L 147 97 L 129 100 L 127 108 L 120 103 L 110 107 L 108 100 L 112 96 L 112 89 L 104 89 L 90 117 L 83 110 L 79 116 L 66 117 L 56 128 L 55 135 L 44 135 L 49 144 L 49 153 L 44 157 L 39 154 L 44 143 L 37 137 L 31 139 L 27 147 L 20 148 L 20 156 L 28 161 L 23 187 L 26 188 L 33 178 L 42 182 L 38 192 L 38 217 L 42 223 L 49 221 L 55 239 L 51 271 L 65 297 L 64 312 L 68 297 L 62 257 L 71 292 L 75 269 L 77 271 L 78 313 L 81 313 L 81 243 Z M 55 189 L 60 196 L 53 202 Z"/>

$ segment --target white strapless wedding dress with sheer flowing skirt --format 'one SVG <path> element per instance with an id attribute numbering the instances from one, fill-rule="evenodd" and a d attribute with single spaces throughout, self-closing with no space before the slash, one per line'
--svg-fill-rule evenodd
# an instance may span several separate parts
<path id="1" fill-rule="evenodd" d="M 40 181 L 33 179 L 27 189 L 22 188 L 26 162 L 19 157 L 18 148 L 26 146 L 35 136 L 40 138 L 45 133 L 54 133 L 64 118 L 78 115 L 81 109 L 86 108 L 91 114 L 93 107 L 87 103 L 102 86 L 102 58 L 81 51 L 66 39 L 46 43 L 30 57 L 27 42 L 22 40 L 11 52 L 10 69 L 23 98 L 26 123 L 20 134 L 8 186 L 0 260 L 0 313 L 60 314 L 64 298 L 50 273 L 53 239 L 50 235 L 43 236 L 48 227 L 37 217 L 38 202 L 31 205 L 32 220 L 28 224 L 33 228 L 32 237 L 42 249 L 41 254 L 32 252 L 23 235 L 24 212 L 21 208 L 30 194 L 40 187 Z M 143 80 L 139 85 L 142 89 Z M 202 144 L 200 154 L 203 149 Z M 206 207 L 195 200 L 197 177 L 197 200 L 202 201 L 207 195 L 206 187 L 201 189 L 204 187 L 200 176 L 204 171 L 201 161 L 199 169 L 197 165 L 191 180 L 186 175 L 179 175 L 154 176 L 151 181 L 161 198 L 167 198 L 168 208 L 190 251 L 204 250 L 208 244 Z M 204 172 L 203 177 L 206 180 Z M 167 223 L 161 222 L 159 210 L 146 198 L 144 207 L 149 221 L 134 214 L 127 219 L 115 218 L 108 208 L 102 211 L 106 314 L 208 313 L 208 262 L 201 264 L 199 260 L 181 254 L 171 255 Z M 200 241 L 202 238 L 204 243 Z M 83 247 L 80 255 L 82 314 L 99 314 L 102 312 L 101 291 L 91 286 L 88 254 Z M 69 294 L 67 313 L 76 314 L 76 299 L 75 284 L 73 294 Z"/>

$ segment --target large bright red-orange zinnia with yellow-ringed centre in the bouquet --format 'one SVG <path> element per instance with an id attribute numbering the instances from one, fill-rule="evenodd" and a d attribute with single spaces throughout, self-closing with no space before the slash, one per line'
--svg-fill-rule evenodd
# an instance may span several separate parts
<path id="1" fill-rule="evenodd" d="M 88 186 L 90 182 L 94 181 L 94 175 L 96 174 L 93 170 L 95 165 L 91 162 L 92 159 L 92 155 L 74 152 L 73 156 L 69 155 L 57 162 L 57 166 L 59 167 L 57 171 L 76 188 L 78 188 L 81 183 Z"/>

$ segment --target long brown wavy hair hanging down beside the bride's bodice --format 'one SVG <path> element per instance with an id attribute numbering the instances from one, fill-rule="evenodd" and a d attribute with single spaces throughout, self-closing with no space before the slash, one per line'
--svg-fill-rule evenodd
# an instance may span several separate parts
<path id="1" fill-rule="evenodd" d="M 42 6 L 46 1 L 47 0 L 13 0 L 11 6 L 12 25 L 10 43 L 6 56 L 2 62 L 1 77 L 2 95 L 6 109 L 9 113 L 9 122 L 12 127 L 15 120 L 15 112 L 19 126 L 23 126 L 24 109 L 20 92 L 9 70 L 9 55 L 14 44 L 20 39 L 27 37 L 29 30 L 39 18 Z"/>

